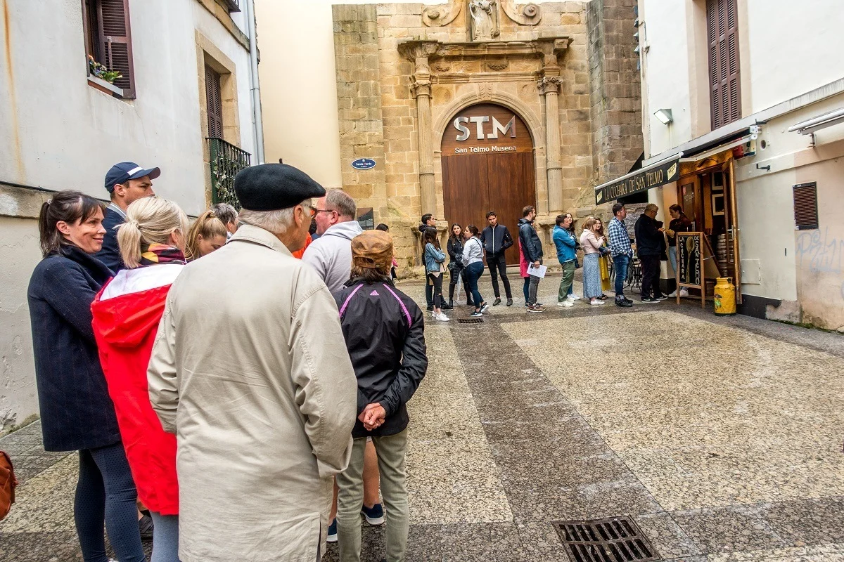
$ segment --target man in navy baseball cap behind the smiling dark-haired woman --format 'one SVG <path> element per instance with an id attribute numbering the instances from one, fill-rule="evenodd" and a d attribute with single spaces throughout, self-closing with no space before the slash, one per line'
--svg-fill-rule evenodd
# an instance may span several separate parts
<path id="1" fill-rule="evenodd" d="M 134 162 L 116 163 L 106 174 L 106 191 L 111 195 L 111 203 L 106 207 L 103 217 L 106 238 L 103 239 L 103 248 L 95 257 L 115 273 L 123 269 L 123 259 L 117 247 L 116 227 L 126 220 L 126 209 L 130 203 L 143 197 L 155 196 L 152 180 L 160 175 L 160 169 L 144 169 Z"/>

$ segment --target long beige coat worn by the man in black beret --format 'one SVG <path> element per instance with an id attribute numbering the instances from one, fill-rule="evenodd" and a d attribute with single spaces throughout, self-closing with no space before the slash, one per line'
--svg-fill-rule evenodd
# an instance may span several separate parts
<path id="1" fill-rule="evenodd" d="M 176 433 L 182 562 L 314 562 L 357 407 L 337 305 L 262 228 L 182 270 L 149 361 Z"/>

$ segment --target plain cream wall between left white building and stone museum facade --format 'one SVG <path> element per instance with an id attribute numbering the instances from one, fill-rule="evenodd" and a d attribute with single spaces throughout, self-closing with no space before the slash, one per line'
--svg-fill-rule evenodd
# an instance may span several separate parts
<path id="1" fill-rule="evenodd" d="M 326 187 L 343 185 L 331 6 L 375 3 L 419 1 L 255 0 L 267 162 L 283 158 Z M 439 3 L 447 0 L 425 5 Z"/>

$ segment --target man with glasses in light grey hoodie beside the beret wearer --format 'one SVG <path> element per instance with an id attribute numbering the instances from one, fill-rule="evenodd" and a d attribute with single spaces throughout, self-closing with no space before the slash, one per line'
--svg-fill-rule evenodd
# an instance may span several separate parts
<path id="1" fill-rule="evenodd" d="M 328 190 L 314 209 L 319 238 L 307 247 L 302 260 L 317 270 L 331 292 L 339 291 L 349 281 L 352 238 L 363 232 L 354 219 L 356 211 L 354 199 L 341 190 Z"/>

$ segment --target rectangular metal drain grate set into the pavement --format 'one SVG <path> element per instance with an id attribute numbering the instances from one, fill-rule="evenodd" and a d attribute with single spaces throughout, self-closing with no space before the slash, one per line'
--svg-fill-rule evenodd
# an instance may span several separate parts
<path id="1" fill-rule="evenodd" d="M 661 560 L 630 517 L 553 523 L 572 562 Z"/>

